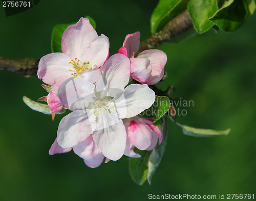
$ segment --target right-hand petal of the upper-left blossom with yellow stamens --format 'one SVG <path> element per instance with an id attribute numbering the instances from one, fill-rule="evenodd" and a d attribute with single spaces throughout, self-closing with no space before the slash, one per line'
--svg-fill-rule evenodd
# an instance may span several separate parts
<path id="1" fill-rule="evenodd" d="M 109 48 L 109 38 L 102 34 L 94 39 L 84 52 L 87 60 L 85 62 L 89 62 L 89 66 L 91 67 L 94 65 L 97 65 L 98 67 L 102 66 L 109 57 Z"/>

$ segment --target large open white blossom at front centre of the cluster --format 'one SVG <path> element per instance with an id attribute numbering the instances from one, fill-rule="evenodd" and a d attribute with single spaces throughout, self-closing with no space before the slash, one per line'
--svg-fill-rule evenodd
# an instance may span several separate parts
<path id="1" fill-rule="evenodd" d="M 155 92 L 146 84 L 125 88 L 130 79 L 130 60 L 122 54 L 113 55 L 100 69 L 88 73 L 92 73 L 92 77 L 101 76 L 95 84 L 82 77 L 71 78 L 59 88 L 61 102 L 75 111 L 61 119 L 57 142 L 66 149 L 92 136 L 103 156 L 116 161 L 126 146 L 122 119 L 134 117 L 151 107 Z M 77 95 L 79 97 L 75 99 Z M 86 144 L 80 146 L 81 152 L 86 148 Z"/>

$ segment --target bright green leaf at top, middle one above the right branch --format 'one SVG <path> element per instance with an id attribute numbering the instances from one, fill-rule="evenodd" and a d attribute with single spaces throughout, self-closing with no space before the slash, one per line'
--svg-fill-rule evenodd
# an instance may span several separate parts
<path id="1" fill-rule="evenodd" d="M 190 0 L 187 9 L 198 33 L 202 34 L 214 26 L 208 18 L 218 10 L 217 0 Z"/>

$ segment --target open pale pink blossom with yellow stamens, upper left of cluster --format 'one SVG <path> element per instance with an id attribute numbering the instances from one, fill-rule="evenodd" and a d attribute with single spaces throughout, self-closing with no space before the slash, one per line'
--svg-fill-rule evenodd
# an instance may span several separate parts
<path id="1" fill-rule="evenodd" d="M 81 17 L 63 33 L 61 50 L 42 57 L 37 71 L 39 79 L 53 85 L 55 94 L 67 78 L 82 76 L 84 71 L 103 65 L 109 56 L 109 38 L 98 36 L 89 19 Z"/>

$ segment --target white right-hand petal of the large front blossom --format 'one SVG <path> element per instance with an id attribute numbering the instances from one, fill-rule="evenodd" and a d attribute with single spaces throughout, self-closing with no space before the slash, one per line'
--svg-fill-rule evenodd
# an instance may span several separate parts
<path id="1" fill-rule="evenodd" d="M 155 92 L 146 84 L 132 84 L 123 91 L 125 98 L 115 101 L 120 118 L 131 118 L 145 109 L 150 108 L 155 102 Z"/>

